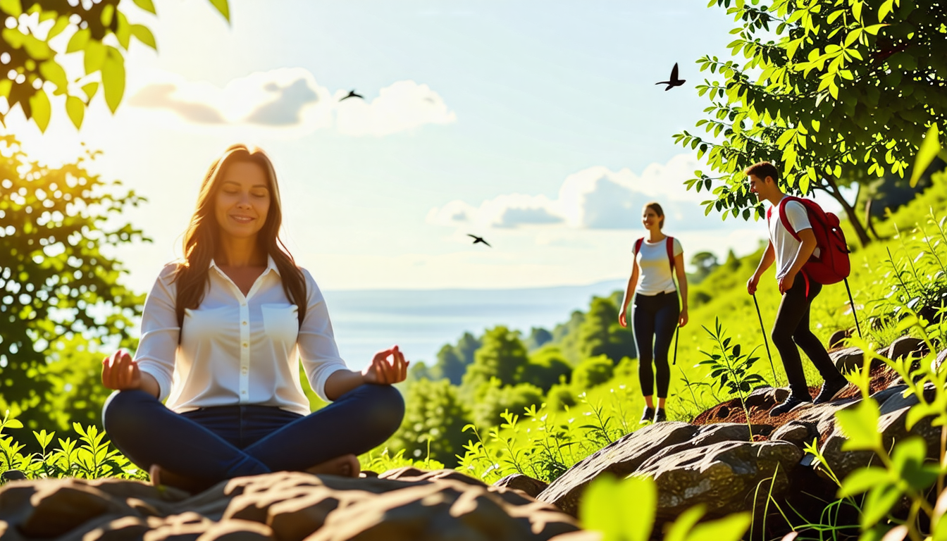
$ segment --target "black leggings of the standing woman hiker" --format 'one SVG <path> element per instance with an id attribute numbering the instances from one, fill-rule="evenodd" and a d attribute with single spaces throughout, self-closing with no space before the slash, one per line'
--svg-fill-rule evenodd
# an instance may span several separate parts
<path id="1" fill-rule="evenodd" d="M 680 316 L 681 307 L 676 291 L 634 296 L 634 344 L 638 348 L 638 380 L 641 382 L 642 396 L 651 396 L 654 393 L 656 371 L 657 397 L 668 398 L 668 350 Z M 655 366 L 653 371 L 652 360 Z"/>

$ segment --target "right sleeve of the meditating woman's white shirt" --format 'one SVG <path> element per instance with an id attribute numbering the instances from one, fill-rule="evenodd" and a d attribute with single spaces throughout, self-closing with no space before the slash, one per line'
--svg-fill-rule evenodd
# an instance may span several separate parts
<path id="1" fill-rule="evenodd" d="M 303 269 L 302 272 L 306 277 L 306 317 L 299 328 L 296 343 L 310 387 L 319 398 L 331 402 L 326 396 L 326 381 L 332 373 L 348 370 L 348 367 L 335 345 L 326 299 L 309 271 Z"/>

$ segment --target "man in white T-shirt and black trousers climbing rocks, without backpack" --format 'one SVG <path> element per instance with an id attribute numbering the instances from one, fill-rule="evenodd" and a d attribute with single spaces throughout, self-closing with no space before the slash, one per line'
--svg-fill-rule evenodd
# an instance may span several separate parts
<path id="1" fill-rule="evenodd" d="M 809 330 L 809 309 L 813 298 L 822 290 L 822 284 L 811 280 L 804 272 L 800 272 L 802 265 L 809 261 L 810 256 L 818 257 L 819 255 L 813 225 L 810 223 L 806 207 L 793 200 L 780 205 L 783 198 L 789 196 L 779 189 L 777 184 L 779 172 L 773 164 L 759 162 L 743 172 L 746 173 L 750 192 L 756 193 L 759 201 L 769 201 L 773 206 L 767 215 L 770 242 L 766 251 L 763 252 L 762 259 L 759 260 L 757 271 L 753 273 L 750 280 L 747 280 L 746 290 L 750 295 L 754 295 L 760 275 L 776 261 L 776 280 L 779 283 L 782 300 L 779 302 L 772 335 L 773 344 L 779 351 L 779 356 L 782 357 L 782 366 L 786 370 L 790 390 L 789 397 L 770 410 L 770 415 L 776 416 L 792 411 L 798 406 L 809 406 L 813 403 L 796 345 L 806 352 L 825 380 L 818 396 L 815 397 L 815 404 L 829 402 L 848 382 L 832 364 L 829 353 L 826 352 L 822 343 Z M 787 221 L 795 229 L 798 241 L 783 225 L 782 216 L 779 215 L 780 209 L 785 211 Z"/>

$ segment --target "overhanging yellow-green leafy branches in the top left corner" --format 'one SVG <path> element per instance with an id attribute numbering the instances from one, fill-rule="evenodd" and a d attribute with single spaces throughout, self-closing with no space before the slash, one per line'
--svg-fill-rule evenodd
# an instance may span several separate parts
<path id="1" fill-rule="evenodd" d="M 209 0 L 229 20 L 227 0 Z M 15 76 L 0 81 L 0 98 L 9 109 L 17 104 L 27 119 L 45 131 L 52 115 L 49 94 L 65 97 L 65 110 L 79 128 L 85 108 L 98 93 L 115 113 L 125 93 L 125 57 L 132 38 L 157 49 L 152 31 L 128 22 L 118 9 L 120 0 L 65 2 L 64 0 L 3 0 L 0 18 L 7 27 L 0 31 L 0 52 L 9 55 L 4 69 Z M 152 0 L 134 4 L 155 13 Z M 125 4 L 127 5 L 127 3 Z M 36 18 L 31 18 L 36 15 Z M 14 24 L 10 27 L 10 22 Z M 65 32 L 63 34 L 63 32 Z M 68 42 L 56 40 L 72 34 Z M 61 63 L 65 55 L 81 53 L 81 72 Z M 3 122 L 0 115 L 0 122 Z"/>

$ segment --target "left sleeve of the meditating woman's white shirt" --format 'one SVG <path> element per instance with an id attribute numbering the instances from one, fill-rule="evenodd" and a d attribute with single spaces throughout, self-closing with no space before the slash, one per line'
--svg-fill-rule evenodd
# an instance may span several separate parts
<path id="1" fill-rule="evenodd" d="M 141 339 L 134 360 L 138 369 L 151 374 L 158 382 L 158 400 L 164 402 L 170 394 L 171 376 L 174 373 L 174 355 L 177 352 L 178 326 L 174 311 L 176 301 L 173 280 L 176 264 L 166 266 L 158 280 L 154 281 L 152 292 L 145 298 L 145 311 L 141 316 Z"/>

